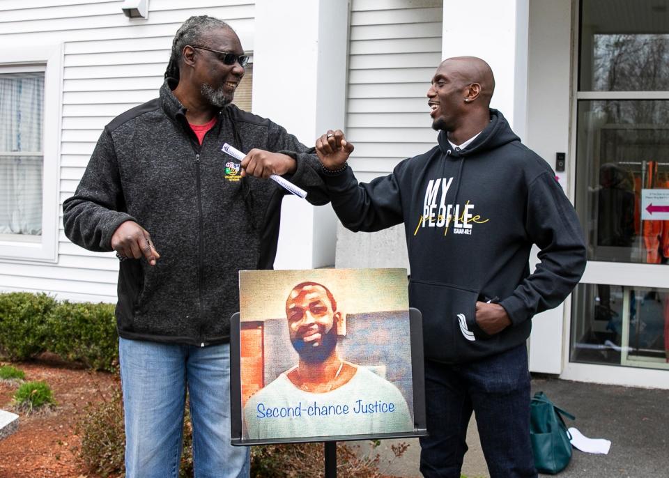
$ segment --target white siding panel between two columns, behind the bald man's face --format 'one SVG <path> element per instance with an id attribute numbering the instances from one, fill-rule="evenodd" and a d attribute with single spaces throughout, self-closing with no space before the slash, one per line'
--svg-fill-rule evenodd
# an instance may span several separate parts
<path id="1" fill-rule="evenodd" d="M 346 137 L 362 180 L 436 144 L 426 93 L 441 61 L 442 3 L 351 3 Z"/>

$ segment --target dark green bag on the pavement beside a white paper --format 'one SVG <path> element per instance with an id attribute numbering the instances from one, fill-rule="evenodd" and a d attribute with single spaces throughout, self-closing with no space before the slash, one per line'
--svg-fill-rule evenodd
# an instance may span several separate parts
<path id="1" fill-rule="evenodd" d="M 535 467 L 541 473 L 564 470 L 571 460 L 571 436 L 562 415 L 576 417 L 557 408 L 544 392 L 537 392 L 530 402 L 530 440 L 535 454 Z"/>

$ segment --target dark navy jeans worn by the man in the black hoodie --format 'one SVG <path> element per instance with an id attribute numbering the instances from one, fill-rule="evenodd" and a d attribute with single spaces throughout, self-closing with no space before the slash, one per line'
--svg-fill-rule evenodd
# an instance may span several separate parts
<path id="1" fill-rule="evenodd" d="M 460 478 L 472 410 L 491 478 L 537 476 L 525 344 L 466 364 L 426 360 L 425 401 L 429 436 L 420 439 L 425 478 Z"/>

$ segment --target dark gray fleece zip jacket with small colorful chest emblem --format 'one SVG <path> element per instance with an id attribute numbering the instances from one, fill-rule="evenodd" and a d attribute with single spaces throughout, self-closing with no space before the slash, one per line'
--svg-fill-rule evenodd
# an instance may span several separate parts
<path id="1" fill-rule="evenodd" d="M 68 238 L 91 251 L 111 251 L 112 235 L 132 220 L 150 234 L 160 260 L 121 263 L 118 333 L 204 346 L 229 341 L 239 309 L 238 271 L 270 269 L 286 193 L 274 181 L 240 179 L 227 142 L 291 154 L 290 178 L 307 199 L 328 202 L 318 159 L 272 121 L 221 109 L 200 146 L 185 109 L 167 82 L 160 98 L 134 107 L 105 127 L 75 195 L 63 203 Z"/>

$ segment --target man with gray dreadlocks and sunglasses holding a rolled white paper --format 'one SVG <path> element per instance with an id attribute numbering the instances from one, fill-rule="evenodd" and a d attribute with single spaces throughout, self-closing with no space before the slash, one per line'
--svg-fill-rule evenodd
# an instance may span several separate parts
<path id="1" fill-rule="evenodd" d="M 116 251 L 125 472 L 178 475 L 186 390 L 198 477 L 249 474 L 231 447 L 230 316 L 238 271 L 272 268 L 289 175 L 323 204 L 316 158 L 284 128 L 231 105 L 248 57 L 236 33 L 191 17 L 174 37 L 160 97 L 105 127 L 75 195 L 66 235 Z M 249 151 L 241 162 L 221 147 Z M 160 254 L 159 252 L 160 251 Z"/>

